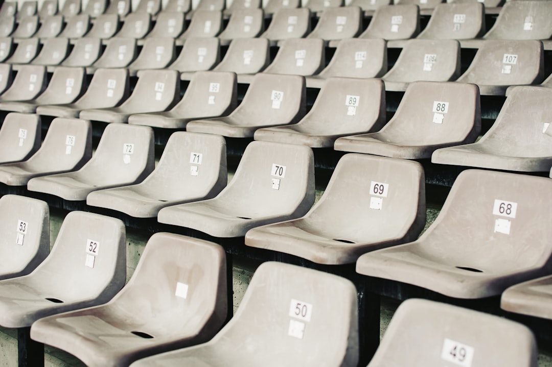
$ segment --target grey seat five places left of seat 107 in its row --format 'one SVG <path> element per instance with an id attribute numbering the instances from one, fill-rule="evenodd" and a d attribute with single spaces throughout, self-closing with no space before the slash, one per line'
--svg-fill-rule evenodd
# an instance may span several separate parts
<path id="1" fill-rule="evenodd" d="M 190 37 L 184 42 L 178 58 L 169 69 L 179 72 L 210 70 L 220 61 L 220 41 L 217 37 Z"/>

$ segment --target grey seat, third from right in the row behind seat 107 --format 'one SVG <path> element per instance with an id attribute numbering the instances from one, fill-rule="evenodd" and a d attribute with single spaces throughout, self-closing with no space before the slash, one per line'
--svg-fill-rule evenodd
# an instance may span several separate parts
<path id="1" fill-rule="evenodd" d="M 420 33 L 420 8 L 414 4 L 379 7 L 361 38 L 406 40 Z"/>

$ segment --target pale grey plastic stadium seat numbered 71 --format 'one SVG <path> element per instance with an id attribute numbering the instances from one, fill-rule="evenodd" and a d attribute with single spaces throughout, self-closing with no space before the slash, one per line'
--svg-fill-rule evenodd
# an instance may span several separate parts
<path id="1" fill-rule="evenodd" d="M 86 203 L 155 218 L 161 208 L 215 197 L 226 180 L 224 138 L 179 131 L 171 134 L 157 168 L 143 182 L 94 191 Z"/>

